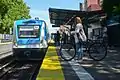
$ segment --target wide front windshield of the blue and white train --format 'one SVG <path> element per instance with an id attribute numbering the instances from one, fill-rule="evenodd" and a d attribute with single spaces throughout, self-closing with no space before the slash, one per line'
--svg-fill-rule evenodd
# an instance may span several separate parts
<path id="1" fill-rule="evenodd" d="M 39 26 L 18 26 L 19 38 L 38 38 L 40 35 Z"/>

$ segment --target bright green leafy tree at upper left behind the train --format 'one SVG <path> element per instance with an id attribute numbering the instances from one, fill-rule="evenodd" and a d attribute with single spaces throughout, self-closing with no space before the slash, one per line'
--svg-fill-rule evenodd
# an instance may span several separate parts
<path id="1" fill-rule="evenodd" d="M 23 0 L 0 0 L 0 33 L 9 33 L 15 20 L 30 18 Z"/>

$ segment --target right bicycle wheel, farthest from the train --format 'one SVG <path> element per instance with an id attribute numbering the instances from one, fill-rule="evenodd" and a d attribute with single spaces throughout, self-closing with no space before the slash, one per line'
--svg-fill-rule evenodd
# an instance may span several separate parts
<path id="1" fill-rule="evenodd" d="M 95 42 L 88 48 L 88 53 L 93 60 L 101 61 L 107 55 L 107 47 L 100 42 Z"/>

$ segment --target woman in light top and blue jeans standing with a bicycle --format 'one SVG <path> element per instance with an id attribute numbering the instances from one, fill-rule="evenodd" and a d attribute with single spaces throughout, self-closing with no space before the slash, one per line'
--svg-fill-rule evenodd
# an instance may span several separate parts
<path id="1" fill-rule="evenodd" d="M 73 31 L 73 34 L 76 48 L 75 59 L 79 61 L 82 60 L 83 57 L 83 41 L 87 40 L 80 17 L 75 18 L 75 31 Z"/>

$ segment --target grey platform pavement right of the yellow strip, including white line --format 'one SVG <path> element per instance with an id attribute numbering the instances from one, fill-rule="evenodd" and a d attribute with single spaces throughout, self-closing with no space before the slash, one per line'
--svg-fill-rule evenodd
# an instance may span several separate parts
<path id="1" fill-rule="evenodd" d="M 108 49 L 102 61 L 85 54 L 82 62 L 61 60 L 65 80 L 120 80 L 120 48 Z"/>

